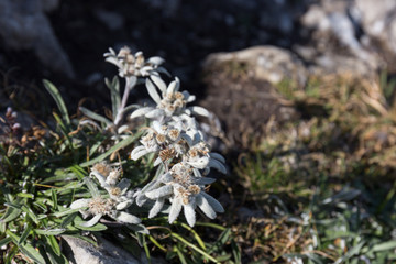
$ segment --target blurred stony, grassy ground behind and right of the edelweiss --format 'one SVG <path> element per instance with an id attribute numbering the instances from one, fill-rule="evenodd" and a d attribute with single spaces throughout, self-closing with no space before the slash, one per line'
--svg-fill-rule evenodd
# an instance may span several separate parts
<path id="1" fill-rule="evenodd" d="M 12 106 L 25 116 L 26 142 L 45 133 L 31 123 L 53 125 L 55 103 L 42 78 L 58 86 L 70 113 L 78 103 L 105 112 L 102 80 L 116 73 L 102 54 L 129 45 L 164 57 L 221 121 L 216 147 L 230 174 L 210 191 L 228 208 L 216 223 L 232 232 L 213 254 L 232 252 L 230 263 L 395 260 L 395 33 L 389 22 L 384 35 L 373 28 L 392 21 L 392 0 L 383 10 L 359 0 L 46 2 L 57 6 L 45 25 L 58 41 L 61 66 L 35 50 L 40 34 L 18 48 L 0 37 L 0 110 Z M 33 6 L 21 20 L 44 15 Z M 230 53 L 254 45 L 262 46 Z"/>

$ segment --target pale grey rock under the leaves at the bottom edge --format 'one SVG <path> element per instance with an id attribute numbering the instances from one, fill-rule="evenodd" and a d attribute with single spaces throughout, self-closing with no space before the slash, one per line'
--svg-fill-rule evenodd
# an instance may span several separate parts
<path id="1" fill-rule="evenodd" d="M 128 251 L 100 239 L 99 246 L 74 237 L 63 235 L 64 253 L 70 264 L 144 264 L 148 263 L 145 256 L 136 260 Z M 153 263 L 164 263 L 162 260 L 155 260 Z"/>

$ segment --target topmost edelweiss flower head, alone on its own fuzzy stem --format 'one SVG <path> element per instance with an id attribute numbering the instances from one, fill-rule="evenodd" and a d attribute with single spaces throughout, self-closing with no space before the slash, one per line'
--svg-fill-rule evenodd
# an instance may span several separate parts
<path id="1" fill-rule="evenodd" d="M 155 70 L 160 70 L 158 66 L 164 63 L 161 57 L 151 57 L 144 59 L 143 53 L 138 52 L 134 55 L 129 47 L 122 47 L 118 54 L 114 50 L 109 48 L 109 53 L 105 53 L 106 62 L 116 65 L 119 68 L 120 77 L 145 77 L 152 75 Z"/>

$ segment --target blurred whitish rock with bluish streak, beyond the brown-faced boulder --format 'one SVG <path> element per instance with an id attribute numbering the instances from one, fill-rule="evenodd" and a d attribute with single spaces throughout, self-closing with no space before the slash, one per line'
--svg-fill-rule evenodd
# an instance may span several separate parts
<path id="1" fill-rule="evenodd" d="M 296 47 L 296 52 L 330 73 L 346 68 L 364 75 L 377 70 L 382 59 L 356 37 L 356 21 L 351 19 L 351 8 L 349 2 L 339 0 L 322 0 L 312 4 L 300 19 L 301 24 L 314 32 L 310 42 L 312 51 L 309 57 L 306 56 L 307 47 Z M 358 70 L 349 64 L 345 67 L 342 59 L 352 61 Z"/>

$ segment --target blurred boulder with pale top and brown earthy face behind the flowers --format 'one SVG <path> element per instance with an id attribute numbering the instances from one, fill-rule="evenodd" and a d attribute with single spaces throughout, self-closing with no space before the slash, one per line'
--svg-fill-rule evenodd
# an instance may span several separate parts
<path id="1" fill-rule="evenodd" d="M 248 146 L 250 135 L 262 135 L 268 122 L 299 119 L 293 102 L 276 88 L 283 81 L 306 81 L 302 63 L 286 50 L 256 46 L 211 54 L 204 72 L 208 89 L 200 105 L 224 124 L 227 147 Z"/>

